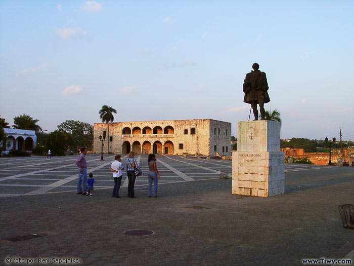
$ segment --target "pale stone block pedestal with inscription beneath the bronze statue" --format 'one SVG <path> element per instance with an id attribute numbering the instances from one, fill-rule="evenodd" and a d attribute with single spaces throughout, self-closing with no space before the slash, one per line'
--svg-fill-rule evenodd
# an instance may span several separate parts
<path id="1" fill-rule="evenodd" d="M 284 193 L 284 153 L 280 123 L 237 123 L 237 151 L 232 152 L 232 194 L 269 197 Z"/>

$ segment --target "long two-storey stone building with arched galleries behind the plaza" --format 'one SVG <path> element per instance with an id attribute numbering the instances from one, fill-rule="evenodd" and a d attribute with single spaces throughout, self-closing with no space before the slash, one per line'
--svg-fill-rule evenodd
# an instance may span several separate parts
<path id="1" fill-rule="evenodd" d="M 107 124 L 94 124 L 94 153 L 101 153 L 99 136 Z M 198 154 L 231 157 L 231 123 L 212 119 L 109 123 L 109 150 L 114 154 Z M 103 141 L 107 153 L 107 137 Z"/>

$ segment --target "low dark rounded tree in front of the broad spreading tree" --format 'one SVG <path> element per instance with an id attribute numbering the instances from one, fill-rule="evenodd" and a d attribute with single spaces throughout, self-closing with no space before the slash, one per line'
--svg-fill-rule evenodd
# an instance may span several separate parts
<path id="1" fill-rule="evenodd" d="M 55 130 L 48 134 L 46 146 L 51 150 L 53 155 L 65 156 L 66 148 L 74 143 L 70 133 Z"/>

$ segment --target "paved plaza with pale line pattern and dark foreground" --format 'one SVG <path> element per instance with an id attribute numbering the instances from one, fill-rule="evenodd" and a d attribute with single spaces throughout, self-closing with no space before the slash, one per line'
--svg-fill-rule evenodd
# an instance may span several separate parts
<path id="1" fill-rule="evenodd" d="M 77 156 L 0 158 L 4 265 L 16 259 L 52 264 L 53 258 L 81 260 L 72 265 L 301 265 L 305 258 L 353 258 L 354 230 L 342 227 L 338 212 L 338 205 L 354 203 L 352 167 L 286 164 L 285 194 L 257 198 L 231 194 L 231 161 L 157 156 L 158 198 L 148 198 L 147 156 L 139 155 L 137 198 L 126 198 L 124 170 L 116 199 L 109 171 L 114 155 L 100 157 L 86 156 L 96 180 L 93 197 L 76 194 Z M 220 171 L 230 179 L 219 179 Z M 136 229 L 154 234 L 123 233 Z M 31 234 L 41 237 L 9 240 Z"/>

